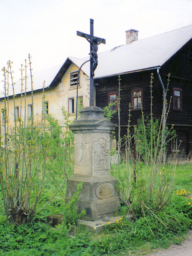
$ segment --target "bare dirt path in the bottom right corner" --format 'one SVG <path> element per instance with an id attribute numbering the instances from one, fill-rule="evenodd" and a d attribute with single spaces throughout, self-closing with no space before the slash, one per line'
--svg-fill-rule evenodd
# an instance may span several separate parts
<path id="1" fill-rule="evenodd" d="M 192 256 L 192 230 L 182 245 L 172 245 L 166 250 L 157 250 L 145 256 Z"/>

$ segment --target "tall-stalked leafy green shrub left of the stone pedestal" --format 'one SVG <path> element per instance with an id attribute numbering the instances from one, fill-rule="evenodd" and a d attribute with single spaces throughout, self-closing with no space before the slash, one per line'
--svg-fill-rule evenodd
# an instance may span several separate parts
<path id="1" fill-rule="evenodd" d="M 67 178 L 73 172 L 73 134 L 69 131 L 69 113 L 62 109 L 64 115 L 64 131 L 58 121 L 47 114 L 44 85 L 42 92 L 42 115 L 38 126 L 34 125 L 33 116 L 33 80 L 31 59 L 29 55 L 31 79 L 31 117 L 26 118 L 26 79 L 21 65 L 21 96 L 20 111 L 24 115 L 16 118 L 15 83 L 11 62 L 3 68 L 4 74 L 4 107 L 1 109 L 3 120 L 0 119 L 0 187 L 3 203 L 1 209 L 10 224 L 31 222 L 36 214 L 44 209 L 50 201 L 60 193 Z M 13 96 L 9 96 L 12 86 Z M 10 126 L 10 102 L 14 105 L 14 127 Z M 49 187 L 49 193 L 45 190 Z"/>

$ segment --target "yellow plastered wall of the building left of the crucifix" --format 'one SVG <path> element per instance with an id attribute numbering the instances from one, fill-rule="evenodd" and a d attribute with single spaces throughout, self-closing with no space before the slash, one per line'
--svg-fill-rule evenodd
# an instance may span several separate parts
<path id="1" fill-rule="evenodd" d="M 45 100 L 48 102 L 48 113 L 58 120 L 59 125 L 64 126 L 64 118 L 61 111 L 61 108 L 64 107 L 66 111 L 69 111 L 68 102 L 70 98 L 74 98 L 74 107 L 76 109 L 76 87 L 70 88 L 70 72 L 78 71 L 78 67 L 75 64 L 71 64 L 68 68 L 65 75 L 62 77 L 61 82 L 51 88 L 46 88 L 44 90 Z M 45 78 L 46 81 L 46 78 Z M 42 90 L 37 90 L 33 92 L 33 122 L 34 126 L 38 126 L 41 123 L 41 115 L 42 115 Z M 78 96 L 83 97 L 83 105 L 84 107 L 89 106 L 89 78 L 82 71 L 80 72 L 80 86 L 78 89 Z M 26 108 L 25 108 L 25 100 L 24 93 L 22 97 L 22 101 L 20 96 L 15 97 L 15 107 L 19 107 L 19 117 L 20 117 L 20 109 L 21 109 L 21 118 L 24 121 L 25 109 L 26 109 L 26 122 L 28 120 L 28 105 L 32 104 L 31 93 L 27 93 L 26 95 Z M 8 106 L 9 105 L 9 106 Z M 0 109 L 5 108 L 3 99 L 0 101 Z M 9 97 L 9 103 L 6 100 L 6 111 L 8 116 L 8 127 L 13 128 L 15 126 L 14 119 L 14 101 L 13 97 Z M 1 117 L 1 134 L 3 135 L 4 128 L 2 126 L 2 113 L 0 113 Z M 75 118 L 75 113 L 70 115 L 70 119 Z M 16 121 L 16 125 L 19 122 Z"/>

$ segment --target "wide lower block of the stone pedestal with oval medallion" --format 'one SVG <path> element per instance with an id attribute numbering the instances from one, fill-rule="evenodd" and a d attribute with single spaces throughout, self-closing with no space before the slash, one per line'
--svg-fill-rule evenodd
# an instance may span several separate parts
<path id="1" fill-rule="evenodd" d="M 97 178 L 74 176 L 67 180 L 66 203 L 76 192 L 79 182 L 82 182 L 82 189 L 76 206 L 78 212 L 82 209 L 86 210 L 85 220 L 96 221 L 104 216 L 117 214 L 119 198 L 116 179 L 110 175 Z"/>

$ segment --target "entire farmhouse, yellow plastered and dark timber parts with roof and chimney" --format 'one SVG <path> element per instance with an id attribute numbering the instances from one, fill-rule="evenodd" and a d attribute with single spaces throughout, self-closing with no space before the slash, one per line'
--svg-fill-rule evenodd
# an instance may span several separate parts
<path id="1" fill-rule="evenodd" d="M 126 44 L 98 54 L 98 67 L 95 70 L 95 103 L 101 108 L 115 102 L 118 93 L 118 75 L 120 74 L 120 125 L 121 134 L 126 133 L 128 125 L 128 105 L 131 103 L 131 125 L 141 118 L 141 107 L 145 115 L 150 114 L 150 80 L 153 73 L 153 114 L 161 118 L 163 108 L 163 88 L 167 86 L 170 73 L 169 90 L 166 99 L 171 100 L 166 125 L 174 124 L 177 138 L 167 147 L 170 154 L 180 151 L 185 156 L 191 152 L 192 131 L 192 25 L 166 32 L 150 38 L 138 40 L 138 31 L 126 31 Z M 34 122 L 38 125 L 41 118 L 42 84 L 46 81 L 44 93 L 47 101 L 47 112 L 63 125 L 61 108 L 71 113 L 76 109 L 77 72 L 81 64 L 88 60 L 68 57 L 63 65 L 52 67 L 33 74 L 34 102 L 31 102 L 31 85 L 27 85 L 28 117 L 34 113 Z M 29 80 L 29 79 L 28 79 Z M 15 86 L 16 114 L 24 113 L 20 106 L 21 87 Z M 0 108 L 4 106 L 3 91 L 0 95 Z M 13 93 L 9 91 L 9 121 L 14 120 L 12 104 Z M 81 68 L 79 92 L 82 105 L 89 104 L 89 63 Z M 116 105 L 113 109 L 116 110 Z M 117 123 L 117 113 L 112 122 Z M 180 148 L 178 142 L 182 141 Z"/>

